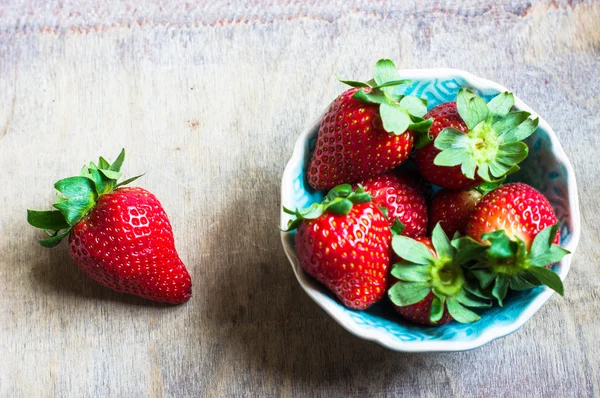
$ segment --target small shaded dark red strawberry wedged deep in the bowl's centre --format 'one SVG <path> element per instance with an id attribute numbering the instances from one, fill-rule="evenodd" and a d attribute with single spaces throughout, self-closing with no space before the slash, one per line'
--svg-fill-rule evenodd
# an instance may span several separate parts
<path id="1" fill-rule="evenodd" d="M 481 193 L 442 189 L 433 197 L 429 206 L 429 229 L 440 223 L 448 236 L 456 232 L 464 233 L 469 217 L 481 200 Z"/>

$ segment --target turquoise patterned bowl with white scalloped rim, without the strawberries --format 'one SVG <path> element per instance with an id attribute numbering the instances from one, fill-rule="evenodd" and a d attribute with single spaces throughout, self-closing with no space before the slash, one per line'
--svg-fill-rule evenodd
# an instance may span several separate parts
<path id="1" fill-rule="evenodd" d="M 405 94 L 426 98 L 429 109 L 454 101 L 459 88 L 468 87 L 486 101 L 496 94 L 508 91 L 505 87 L 470 73 L 456 69 L 401 70 L 411 85 Z M 515 108 L 538 116 L 515 96 Z M 306 184 L 305 171 L 314 149 L 322 115 L 298 138 L 292 158 L 283 173 L 281 203 L 290 209 L 306 207 L 319 202 L 323 193 L 315 192 Z M 561 223 L 561 245 L 571 251 L 554 269 L 565 279 L 571 257 L 579 241 L 580 219 L 577 184 L 573 167 L 567 159 L 556 134 L 542 118 L 536 132 L 527 140 L 529 157 L 521 164 L 521 171 L 511 176 L 514 181 L 528 183 L 541 191 L 552 203 Z M 281 211 L 281 228 L 287 226 L 290 216 Z M 481 319 L 473 324 L 451 322 L 440 327 L 423 327 L 404 322 L 390 305 L 376 304 L 367 311 L 352 311 L 342 306 L 322 285 L 308 276 L 300 267 L 294 244 L 294 233 L 281 233 L 285 252 L 294 273 L 306 293 L 333 319 L 349 332 L 387 348 L 404 352 L 463 351 L 479 347 L 520 328 L 539 310 L 554 293 L 540 287 L 511 295 L 504 308 L 493 307 L 481 312 Z"/>

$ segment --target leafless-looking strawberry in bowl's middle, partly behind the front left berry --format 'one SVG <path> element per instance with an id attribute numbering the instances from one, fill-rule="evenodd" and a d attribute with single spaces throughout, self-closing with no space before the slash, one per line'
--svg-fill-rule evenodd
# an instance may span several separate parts
<path id="1" fill-rule="evenodd" d="M 418 238 L 427 233 L 427 205 L 419 182 L 408 173 L 387 172 L 360 183 L 373 203 L 387 216 L 390 227 L 398 219 L 402 235 Z"/>

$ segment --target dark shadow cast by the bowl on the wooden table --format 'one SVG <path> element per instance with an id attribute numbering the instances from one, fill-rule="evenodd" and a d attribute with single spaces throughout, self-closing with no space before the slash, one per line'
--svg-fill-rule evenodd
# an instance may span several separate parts
<path id="1" fill-rule="evenodd" d="M 373 375 L 397 380 L 398 372 L 410 378 L 427 358 L 444 355 L 390 351 L 353 336 L 321 310 L 299 286 L 281 245 L 278 176 L 265 180 L 269 185 L 260 195 L 226 205 L 210 238 L 210 258 L 218 269 L 210 279 L 221 283 L 210 286 L 205 316 L 211 328 L 223 332 L 236 358 L 282 383 L 317 386 L 360 380 L 368 385 Z"/>

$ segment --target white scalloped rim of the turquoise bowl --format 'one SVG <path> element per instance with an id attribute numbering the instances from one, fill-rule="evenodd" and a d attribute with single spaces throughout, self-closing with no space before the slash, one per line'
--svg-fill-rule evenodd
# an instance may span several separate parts
<path id="1" fill-rule="evenodd" d="M 509 91 L 506 87 L 493 82 L 491 80 L 483 79 L 477 77 L 469 72 L 465 72 L 460 69 L 451 69 L 451 68 L 439 68 L 439 69 L 400 69 L 399 70 L 403 78 L 407 79 L 451 79 L 451 78 L 462 78 L 466 81 L 469 86 L 472 86 L 476 89 L 492 89 L 497 90 L 499 92 Z M 579 200 L 577 194 L 577 182 L 575 179 L 575 172 L 573 171 L 573 166 L 565 154 L 558 138 L 556 137 L 556 133 L 550 127 L 550 125 L 540 117 L 533 109 L 527 106 L 523 101 L 521 101 L 516 95 L 515 98 L 515 108 L 520 110 L 525 110 L 530 112 L 533 116 L 538 116 L 540 123 L 539 126 L 542 127 L 548 133 L 548 137 L 552 144 L 553 154 L 556 159 L 561 162 L 566 170 L 568 176 L 568 195 L 569 195 L 569 212 L 571 216 L 571 220 L 573 223 L 573 229 L 571 232 L 571 237 L 568 242 L 564 245 L 564 247 L 571 252 L 570 255 L 567 255 L 560 262 L 560 270 L 559 276 L 564 281 L 571 266 L 571 259 L 573 254 L 575 253 L 575 249 L 577 248 L 577 244 L 579 243 L 579 238 L 581 235 L 581 225 L 580 225 L 580 212 L 579 212 Z M 296 140 L 294 145 L 294 151 L 288 163 L 286 164 L 283 178 L 282 178 L 282 190 L 281 190 L 281 205 L 283 206 L 287 202 L 287 196 L 285 187 L 289 186 L 286 184 L 286 181 L 293 180 L 294 176 L 290 175 L 292 171 L 292 167 L 290 165 L 296 164 L 297 162 L 302 161 L 303 157 L 303 147 L 308 136 L 314 131 L 315 127 L 318 126 L 321 118 L 325 114 L 324 111 L 313 123 L 306 128 L 302 134 Z M 281 213 L 281 222 L 280 227 L 284 229 L 287 224 L 287 220 L 289 216 L 283 212 L 283 208 L 280 209 Z M 538 296 L 535 297 L 530 303 L 528 303 L 523 312 L 518 316 L 516 320 L 512 323 L 502 326 L 494 326 L 489 329 L 483 331 L 477 338 L 473 340 L 466 341 L 436 341 L 436 340 L 427 340 L 427 341 L 402 341 L 399 339 L 391 339 L 388 335 L 388 332 L 381 329 L 365 329 L 361 325 L 356 325 L 356 323 L 352 320 L 348 313 L 344 312 L 341 309 L 340 304 L 335 302 L 328 302 L 322 300 L 322 293 L 316 290 L 313 286 L 315 284 L 314 281 L 310 280 L 306 274 L 303 272 L 298 272 L 298 258 L 296 253 L 287 242 L 286 236 L 288 233 L 281 232 L 281 240 L 283 243 L 283 247 L 285 253 L 288 257 L 292 265 L 292 269 L 294 270 L 294 274 L 298 279 L 298 282 L 302 286 L 302 289 L 308 294 L 310 298 L 312 298 L 325 312 L 327 312 L 336 322 L 338 322 L 344 329 L 349 331 L 350 333 L 363 338 L 365 340 L 374 341 L 379 343 L 380 345 L 389 348 L 394 351 L 401 352 L 454 352 L 454 351 L 465 351 L 473 348 L 480 347 L 486 343 L 489 343 L 497 338 L 504 337 L 510 333 L 515 332 L 521 326 L 525 324 L 543 305 L 548 299 L 554 294 L 554 291 L 546 288 L 544 289 Z"/>

